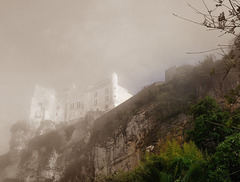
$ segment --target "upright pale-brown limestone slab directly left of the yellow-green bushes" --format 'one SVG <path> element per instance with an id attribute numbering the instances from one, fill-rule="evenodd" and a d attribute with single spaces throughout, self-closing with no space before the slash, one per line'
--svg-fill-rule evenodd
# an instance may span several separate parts
<path id="1" fill-rule="evenodd" d="M 103 145 L 93 147 L 95 175 L 109 174 L 118 170 L 127 171 L 136 166 L 141 159 L 141 142 L 145 133 L 153 129 L 154 123 L 142 111 L 130 119 L 126 127 L 120 126 L 108 137 Z"/>

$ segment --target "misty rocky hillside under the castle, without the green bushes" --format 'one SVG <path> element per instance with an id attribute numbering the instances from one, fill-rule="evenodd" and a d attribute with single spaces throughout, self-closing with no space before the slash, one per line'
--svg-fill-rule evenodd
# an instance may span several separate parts
<path id="1" fill-rule="evenodd" d="M 212 69 L 214 74 L 210 74 Z M 236 72 L 225 77 L 222 61 L 207 59 L 198 66 L 178 67 L 174 78 L 154 83 L 108 113 L 89 112 L 76 124 L 43 121 L 12 127 L 10 151 L 0 158 L 3 181 L 94 181 L 98 175 L 129 171 L 146 151 L 179 144 L 193 128 L 191 105 L 206 95 L 220 105 L 239 82 Z"/>

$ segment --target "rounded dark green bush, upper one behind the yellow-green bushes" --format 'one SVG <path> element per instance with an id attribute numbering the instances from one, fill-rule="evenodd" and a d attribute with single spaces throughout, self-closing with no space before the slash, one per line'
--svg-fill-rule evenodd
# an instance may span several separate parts
<path id="1" fill-rule="evenodd" d="M 209 96 L 192 106 L 191 111 L 194 116 L 194 129 L 188 134 L 199 148 L 207 149 L 212 153 L 226 136 L 236 132 L 230 128 L 233 124 L 231 114 L 223 111 Z M 238 118 L 238 114 L 235 117 Z"/>

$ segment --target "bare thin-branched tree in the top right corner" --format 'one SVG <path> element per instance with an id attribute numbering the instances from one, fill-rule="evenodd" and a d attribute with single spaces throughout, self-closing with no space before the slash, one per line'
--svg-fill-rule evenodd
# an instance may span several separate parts
<path id="1" fill-rule="evenodd" d="M 225 60 L 224 63 L 226 68 L 226 75 L 233 68 L 240 70 L 240 1 L 202 0 L 202 3 L 205 7 L 205 10 L 203 11 L 200 11 L 191 4 L 188 4 L 188 6 L 195 11 L 195 13 L 203 17 L 202 22 L 186 19 L 176 14 L 174 14 L 174 16 L 204 26 L 208 30 L 220 30 L 219 36 L 232 34 L 235 36 L 235 39 L 234 42 L 230 45 L 219 45 L 218 48 L 212 50 L 192 52 L 189 54 L 220 50 L 220 54 L 224 56 Z"/>

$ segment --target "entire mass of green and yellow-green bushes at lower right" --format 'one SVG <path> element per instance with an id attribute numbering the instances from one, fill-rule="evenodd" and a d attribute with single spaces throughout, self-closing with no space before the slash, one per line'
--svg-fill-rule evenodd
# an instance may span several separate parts
<path id="1" fill-rule="evenodd" d="M 166 151 L 147 153 L 133 171 L 99 176 L 96 181 L 239 181 L 240 133 L 236 126 L 240 111 L 224 110 L 209 96 L 191 110 L 194 128 L 189 131 L 189 138 L 192 141 L 182 146 L 174 140 L 168 142 Z"/>

